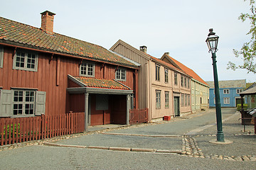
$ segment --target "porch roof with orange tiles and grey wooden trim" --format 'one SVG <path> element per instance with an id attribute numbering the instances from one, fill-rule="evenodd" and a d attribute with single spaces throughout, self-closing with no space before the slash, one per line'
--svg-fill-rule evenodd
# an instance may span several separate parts
<path id="1" fill-rule="evenodd" d="M 70 94 L 132 94 L 128 86 L 114 79 L 96 79 L 92 77 L 73 77 L 68 75 L 68 79 L 78 84 L 80 87 L 69 87 Z"/>

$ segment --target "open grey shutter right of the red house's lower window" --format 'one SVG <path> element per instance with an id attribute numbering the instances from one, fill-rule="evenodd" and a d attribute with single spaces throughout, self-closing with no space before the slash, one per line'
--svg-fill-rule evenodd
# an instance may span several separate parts
<path id="1" fill-rule="evenodd" d="M 42 115 L 46 112 L 46 91 L 36 91 L 36 113 Z"/>

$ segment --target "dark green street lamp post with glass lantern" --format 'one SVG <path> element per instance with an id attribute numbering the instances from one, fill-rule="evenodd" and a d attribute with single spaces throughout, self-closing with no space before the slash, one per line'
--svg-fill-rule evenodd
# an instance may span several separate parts
<path id="1" fill-rule="evenodd" d="M 221 108 L 220 108 L 220 90 L 218 85 L 218 73 L 217 73 L 217 64 L 216 64 L 216 55 L 215 52 L 218 50 L 218 35 L 213 33 L 213 28 L 209 29 L 210 33 L 206 39 L 206 43 L 209 48 L 209 52 L 212 53 L 213 59 L 213 77 L 214 77 L 214 88 L 215 88 L 215 109 L 216 109 L 216 119 L 217 119 L 217 142 L 225 142 L 223 127 L 222 127 L 222 118 L 221 118 Z"/>

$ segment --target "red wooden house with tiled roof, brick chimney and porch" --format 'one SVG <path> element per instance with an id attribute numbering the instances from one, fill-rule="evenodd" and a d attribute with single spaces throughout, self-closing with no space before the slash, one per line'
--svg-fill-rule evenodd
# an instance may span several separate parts
<path id="1" fill-rule="evenodd" d="M 85 112 L 87 125 L 129 124 L 139 64 L 99 45 L 0 17 L 0 117 Z"/>

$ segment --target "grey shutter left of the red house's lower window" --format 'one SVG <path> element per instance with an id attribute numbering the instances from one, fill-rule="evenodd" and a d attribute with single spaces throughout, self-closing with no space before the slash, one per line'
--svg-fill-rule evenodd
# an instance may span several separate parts
<path id="1" fill-rule="evenodd" d="M 11 117 L 11 90 L 0 90 L 0 117 Z"/>

